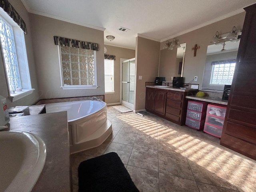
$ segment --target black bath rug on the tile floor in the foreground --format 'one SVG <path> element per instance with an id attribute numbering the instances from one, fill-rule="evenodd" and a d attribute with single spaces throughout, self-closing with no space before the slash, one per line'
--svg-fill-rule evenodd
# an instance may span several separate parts
<path id="1" fill-rule="evenodd" d="M 139 192 L 115 152 L 81 162 L 78 186 L 78 192 Z"/>

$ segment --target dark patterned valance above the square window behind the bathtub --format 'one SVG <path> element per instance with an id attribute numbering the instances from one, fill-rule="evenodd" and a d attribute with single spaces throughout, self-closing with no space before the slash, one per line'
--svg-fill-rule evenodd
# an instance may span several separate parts
<path id="1" fill-rule="evenodd" d="M 54 36 L 54 44 L 55 45 L 62 45 L 67 47 L 76 47 L 81 49 L 90 49 L 90 50 L 99 50 L 99 45 L 97 43 L 79 41 L 74 39 L 68 39 L 64 37 Z"/>

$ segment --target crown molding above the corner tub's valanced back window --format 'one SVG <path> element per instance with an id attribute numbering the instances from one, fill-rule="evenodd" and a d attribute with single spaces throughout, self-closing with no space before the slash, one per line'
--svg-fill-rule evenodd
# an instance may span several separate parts
<path id="1" fill-rule="evenodd" d="M 33 13 L 33 14 L 37 14 L 37 15 L 41 15 L 41 16 L 50 17 L 50 18 L 53 18 L 53 19 L 61 20 L 61 21 L 65 21 L 65 22 L 69 22 L 69 23 L 73 23 L 73 24 L 77 24 L 77 25 L 92 28 L 92 29 L 97 29 L 97 30 L 100 30 L 100 31 L 106 30 L 106 28 L 103 28 L 103 27 L 98 27 L 98 26 L 94 26 L 94 25 L 90 25 L 90 24 L 86 24 L 86 23 L 82 23 L 82 22 L 77 22 L 77 21 L 70 20 L 70 19 L 67 19 L 67 18 L 62 18 L 62 17 L 58 17 L 58 16 L 55 16 L 55 15 L 51 15 L 51 14 L 43 13 L 43 12 L 40 12 L 40 11 L 36 11 L 36 10 L 33 10 L 33 9 L 30 9 L 28 12 Z"/>

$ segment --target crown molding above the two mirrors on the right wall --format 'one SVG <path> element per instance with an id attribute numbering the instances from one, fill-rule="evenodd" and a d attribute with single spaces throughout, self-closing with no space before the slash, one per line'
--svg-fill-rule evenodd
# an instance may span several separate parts
<path id="1" fill-rule="evenodd" d="M 210 20 L 210 21 L 208 21 L 208 22 L 202 23 L 202 24 L 200 24 L 200 25 L 198 25 L 198 26 L 194 26 L 194 27 L 192 27 L 192 28 L 190 28 L 190 29 L 188 29 L 188 30 L 184 30 L 184 31 L 182 31 L 182 32 L 180 32 L 180 33 L 177 33 L 177 34 L 174 34 L 174 35 L 172 35 L 172 36 L 169 36 L 169 37 L 166 37 L 166 38 L 164 38 L 164 39 L 161 39 L 160 42 L 165 42 L 166 40 L 169 40 L 169 39 L 172 39 L 172 38 L 174 38 L 174 37 L 177 37 L 177 36 L 186 34 L 186 33 L 188 33 L 188 32 L 191 32 L 191 31 L 194 31 L 194 30 L 199 29 L 199 28 L 201 28 L 201 27 L 204 27 L 204 26 L 213 24 L 213 23 L 215 23 L 215 22 L 217 22 L 217 21 L 226 19 L 226 18 L 228 18 L 228 17 L 237 15 L 237 14 L 242 13 L 242 12 L 244 12 L 244 9 L 243 9 L 243 8 L 242 8 L 242 9 L 238 9 L 238 10 L 233 11 L 233 12 L 231 12 L 231 13 L 228 13 L 228 14 L 222 15 L 222 16 L 220 16 L 220 17 L 218 17 L 218 18 L 212 19 L 212 20 Z"/>

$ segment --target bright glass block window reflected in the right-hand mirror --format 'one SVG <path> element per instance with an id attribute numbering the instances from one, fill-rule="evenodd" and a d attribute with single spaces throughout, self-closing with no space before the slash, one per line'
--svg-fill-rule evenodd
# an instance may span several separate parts
<path id="1" fill-rule="evenodd" d="M 211 84 L 232 84 L 236 63 L 215 64 L 212 66 Z"/>

